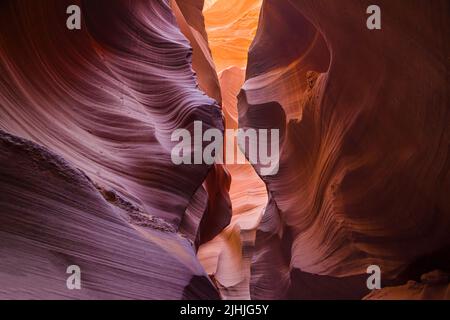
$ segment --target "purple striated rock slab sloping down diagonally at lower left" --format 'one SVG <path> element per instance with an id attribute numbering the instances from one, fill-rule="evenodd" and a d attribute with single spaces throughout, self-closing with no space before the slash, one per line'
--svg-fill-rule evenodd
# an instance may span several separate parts
<path id="1" fill-rule="evenodd" d="M 1 299 L 219 298 L 173 226 L 60 156 L 0 131 L 0 165 Z M 72 265 L 82 290 L 66 286 Z"/>

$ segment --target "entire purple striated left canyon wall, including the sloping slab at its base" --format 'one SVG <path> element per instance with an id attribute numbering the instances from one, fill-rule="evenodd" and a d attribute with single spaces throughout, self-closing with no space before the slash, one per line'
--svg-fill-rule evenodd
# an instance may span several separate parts
<path id="1" fill-rule="evenodd" d="M 171 134 L 223 119 L 168 1 L 4 1 L 0 17 L 1 296 L 77 296 L 60 280 L 78 263 L 78 297 L 217 298 L 177 234 L 209 168 L 172 164 Z"/>

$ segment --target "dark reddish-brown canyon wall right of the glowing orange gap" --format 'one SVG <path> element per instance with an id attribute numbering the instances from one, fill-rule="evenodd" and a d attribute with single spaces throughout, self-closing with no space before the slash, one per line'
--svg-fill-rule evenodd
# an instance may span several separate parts
<path id="1" fill-rule="evenodd" d="M 361 298 L 369 265 L 399 281 L 450 243 L 449 4 L 378 1 L 376 31 L 370 4 L 264 1 L 239 123 L 280 129 L 283 147 L 264 177 L 253 298 L 342 297 L 350 283 Z"/>

